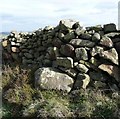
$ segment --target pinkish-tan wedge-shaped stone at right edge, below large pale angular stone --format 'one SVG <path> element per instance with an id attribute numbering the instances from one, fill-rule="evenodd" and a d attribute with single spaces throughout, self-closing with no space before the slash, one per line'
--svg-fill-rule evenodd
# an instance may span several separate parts
<path id="1" fill-rule="evenodd" d="M 120 68 L 118 66 L 101 64 L 98 66 L 98 68 L 107 72 L 110 76 L 114 77 L 116 81 L 120 82 Z"/>

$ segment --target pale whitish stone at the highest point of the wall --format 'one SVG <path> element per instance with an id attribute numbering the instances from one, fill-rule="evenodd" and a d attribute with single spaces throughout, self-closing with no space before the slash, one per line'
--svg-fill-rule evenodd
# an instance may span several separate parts
<path id="1" fill-rule="evenodd" d="M 71 19 L 65 19 L 60 21 L 59 26 L 61 30 L 71 29 L 75 23 L 76 21 L 73 21 Z"/>

